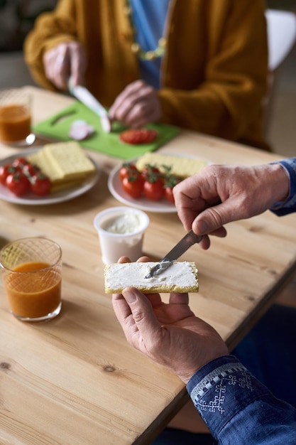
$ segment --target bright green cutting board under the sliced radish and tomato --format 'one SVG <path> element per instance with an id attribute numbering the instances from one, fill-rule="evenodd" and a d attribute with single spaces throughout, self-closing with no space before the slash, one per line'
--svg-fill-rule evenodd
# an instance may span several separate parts
<path id="1" fill-rule="evenodd" d="M 147 128 L 152 128 L 158 131 L 158 137 L 155 141 L 150 144 L 124 144 L 119 140 L 119 134 L 123 132 L 126 127 L 118 122 L 114 122 L 112 124 L 112 132 L 109 134 L 105 133 L 102 130 L 100 119 L 97 114 L 78 101 L 73 102 L 70 107 L 63 109 L 54 116 L 36 124 L 33 127 L 33 131 L 36 134 L 50 136 L 60 141 L 71 141 L 72 139 L 68 135 L 71 124 L 80 119 L 94 127 L 94 134 L 89 136 L 88 139 L 80 141 L 81 146 L 89 150 L 100 151 L 109 154 L 110 156 L 116 156 L 116 158 L 120 159 L 131 159 L 142 156 L 147 151 L 154 151 L 180 132 L 178 127 L 173 127 L 172 125 L 149 124 L 147 125 Z"/>

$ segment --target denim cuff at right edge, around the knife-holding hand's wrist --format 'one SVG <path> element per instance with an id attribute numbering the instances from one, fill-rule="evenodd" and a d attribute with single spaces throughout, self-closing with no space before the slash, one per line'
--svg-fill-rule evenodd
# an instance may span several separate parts
<path id="1" fill-rule="evenodd" d="M 296 158 L 283 159 L 283 161 L 273 163 L 280 163 L 287 171 L 290 181 L 290 193 L 285 201 L 275 203 L 270 210 L 278 216 L 296 212 Z"/>

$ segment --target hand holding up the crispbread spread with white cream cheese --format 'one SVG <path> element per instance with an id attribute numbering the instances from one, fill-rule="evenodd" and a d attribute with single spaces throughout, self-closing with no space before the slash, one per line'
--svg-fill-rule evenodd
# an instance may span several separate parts
<path id="1" fill-rule="evenodd" d="M 129 259 L 121 257 L 119 262 Z M 203 365 L 229 353 L 219 334 L 194 316 L 188 302 L 188 294 L 170 294 L 167 304 L 159 294 L 144 295 L 134 287 L 112 297 L 128 343 L 175 372 L 185 384 Z"/>

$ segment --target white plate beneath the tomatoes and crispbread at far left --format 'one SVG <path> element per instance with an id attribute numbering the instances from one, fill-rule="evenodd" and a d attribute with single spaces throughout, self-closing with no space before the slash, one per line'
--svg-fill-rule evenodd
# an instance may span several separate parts
<path id="1" fill-rule="evenodd" d="M 17 154 L 13 154 L 13 156 L 2 159 L 0 161 L 0 166 L 4 165 L 5 163 L 12 163 L 13 159 L 16 158 L 26 158 L 26 156 L 35 153 L 41 148 L 42 147 L 18 151 Z M 94 163 L 94 161 L 90 157 L 89 159 Z M 13 195 L 13 193 L 11 193 L 5 186 L 2 186 L 2 184 L 0 184 L 0 199 L 6 200 L 9 203 L 23 205 L 48 205 L 62 203 L 63 201 L 67 201 L 82 195 L 83 193 L 89 191 L 89 189 L 92 188 L 95 183 L 97 183 L 101 171 L 99 170 L 96 163 L 94 163 L 94 166 L 96 167 L 96 171 L 94 172 L 94 174 L 92 176 L 89 176 L 89 178 L 86 178 L 82 183 L 77 184 L 77 186 L 65 188 L 64 190 L 50 193 L 49 195 L 45 196 L 34 195 L 34 193 L 26 193 L 26 195 L 23 196 L 16 196 Z"/>

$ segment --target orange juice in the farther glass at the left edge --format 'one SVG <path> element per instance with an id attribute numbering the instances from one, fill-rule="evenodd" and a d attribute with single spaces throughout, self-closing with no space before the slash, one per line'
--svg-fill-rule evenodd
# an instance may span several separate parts
<path id="1" fill-rule="evenodd" d="M 0 107 L 0 140 L 23 141 L 31 133 L 31 114 L 25 105 Z"/>

